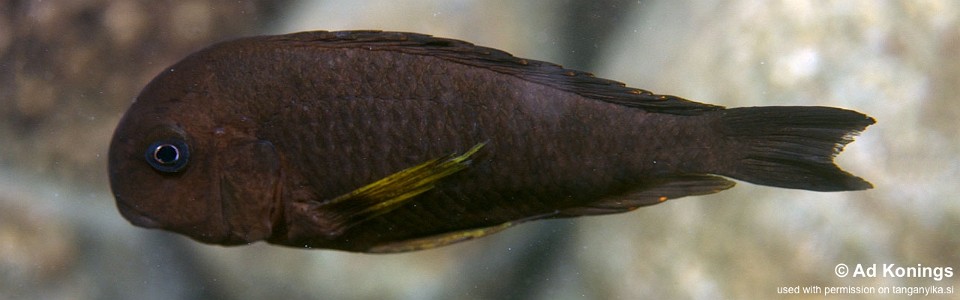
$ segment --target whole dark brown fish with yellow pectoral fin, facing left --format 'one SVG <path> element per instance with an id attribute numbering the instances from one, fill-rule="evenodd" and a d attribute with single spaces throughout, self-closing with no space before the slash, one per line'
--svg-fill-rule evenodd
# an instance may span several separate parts
<path id="1" fill-rule="evenodd" d="M 655 95 L 422 34 L 303 32 L 166 69 L 120 121 L 109 168 L 138 226 L 396 252 L 733 186 L 721 176 L 868 189 L 833 157 L 873 123 Z"/>

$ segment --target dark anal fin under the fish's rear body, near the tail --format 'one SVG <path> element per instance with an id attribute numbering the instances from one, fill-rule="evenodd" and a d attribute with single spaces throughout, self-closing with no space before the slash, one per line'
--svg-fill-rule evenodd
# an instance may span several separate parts
<path id="1" fill-rule="evenodd" d="M 655 178 L 626 194 L 561 210 L 556 217 L 622 213 L 642 206 L 659 204 L 669 199 L 713 194 L 729 189 L 734 184 L 733 181 L 720 176 L 703 174 Z"/>

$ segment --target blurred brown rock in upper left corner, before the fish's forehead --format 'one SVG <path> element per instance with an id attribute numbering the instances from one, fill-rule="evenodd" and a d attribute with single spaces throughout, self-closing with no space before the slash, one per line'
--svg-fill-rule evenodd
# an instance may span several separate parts
<path id="1" fill-rule="evenodd" d="M 189 52 L 255 33 L 283 2 L 5 1 L 0 138 L 17 143 L 0 166 L 105 185 L 90 170 L 105 174 L 100 154 L 139 90 Z"/>

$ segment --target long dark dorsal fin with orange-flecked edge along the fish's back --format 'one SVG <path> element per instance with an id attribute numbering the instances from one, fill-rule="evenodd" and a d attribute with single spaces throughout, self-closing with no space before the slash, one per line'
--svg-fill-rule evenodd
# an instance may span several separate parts
<path id="1" fill-rule="evenodd" d="M 704 111 L 723 109 L 722 106 L 694 102 L 676 96 L 657 95 L 650 91 L 627 87 L 622 82 L 597 78 L 588 72 L 565 69 L 557 64 L 514 57 L 510 53 L 497 49 L 425 34 L 384 31 L 309 31 L 276 36 L 271 40 L 306 42 L 311 43 L 311 46 L 331 48 L 363 48 L 372 51 L 399 51 L 428 55 L 516 76 L 583 97 L 637 107 L 650 112 L 697 115 Z"/>

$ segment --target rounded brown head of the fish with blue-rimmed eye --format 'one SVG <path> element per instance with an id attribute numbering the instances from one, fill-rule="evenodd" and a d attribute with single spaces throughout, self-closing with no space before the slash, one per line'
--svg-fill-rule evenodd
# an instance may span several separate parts
<path id="1" fill-rule="evenodd" d="M 121 119 L 110 186 L 132 224 L 223 245 L 269 237 L 279 221 L 280 158 L 256 138 L 215 76 L 181 62 L 155 78 Z M 241 120 L 242 121 L 238 121 Z"/>

